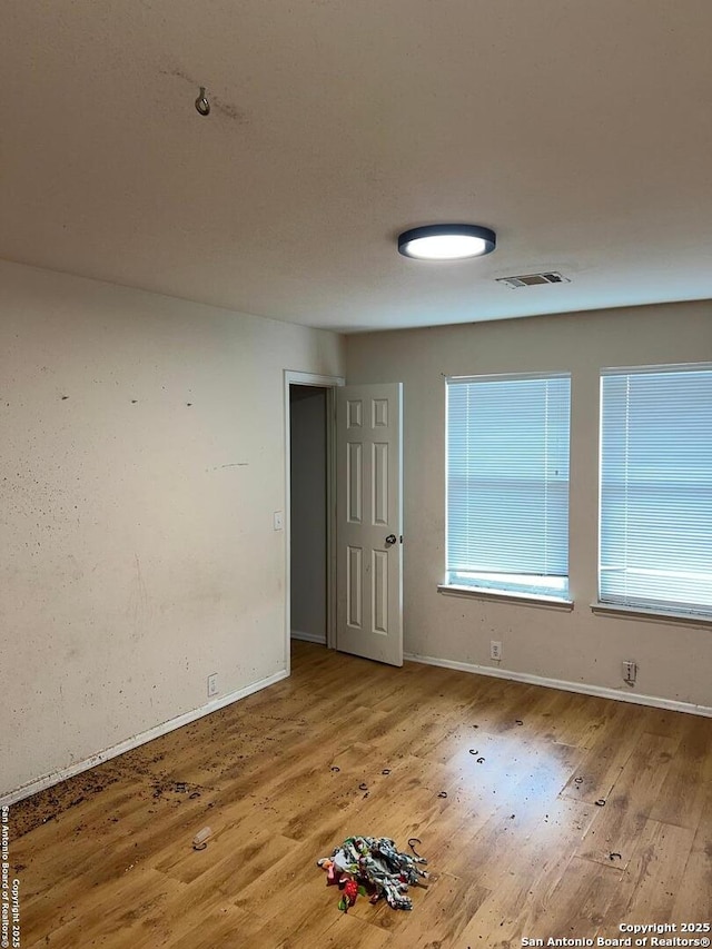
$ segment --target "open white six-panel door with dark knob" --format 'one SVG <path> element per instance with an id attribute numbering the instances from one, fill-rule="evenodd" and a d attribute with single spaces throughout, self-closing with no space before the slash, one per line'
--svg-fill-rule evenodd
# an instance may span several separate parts
<path id="1" fill-rule="evenodd" d="M 336 408 L 336 645 L 403 665 L 402 384 L 338 388 Z"/>

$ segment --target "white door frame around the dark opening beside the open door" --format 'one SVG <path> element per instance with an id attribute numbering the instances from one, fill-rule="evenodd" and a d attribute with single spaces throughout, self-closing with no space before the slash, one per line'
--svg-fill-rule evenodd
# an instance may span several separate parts
<path id="1" fill-rule="evenodd" d="M 289 387 L 326 389 L 326 645 L 336 649 L 336 398 L 334 389 L 346 384 L 344 376 L 284 370 L 285 386 L 285 656 L 291 673 L 291 424 Z"/>

